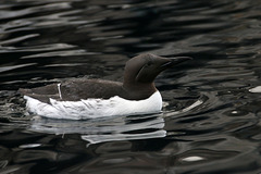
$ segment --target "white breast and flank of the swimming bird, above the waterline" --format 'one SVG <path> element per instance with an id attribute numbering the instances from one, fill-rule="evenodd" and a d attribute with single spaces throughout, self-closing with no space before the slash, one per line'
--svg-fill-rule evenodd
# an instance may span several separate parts
<path id="1" fill-rule="evenodd" d="M 112 115 L 135 115 L 158 113 L 162 108 L 162 98 L 156 91 L 145 100 L 126 100 L 121 97 L 110 99 L 87 99 L 80 101 L 58 101 L 50 99 L 50 104 L 28 96 L 27 109 L 38 115 L 51 119 L 85 120 Z"/>

